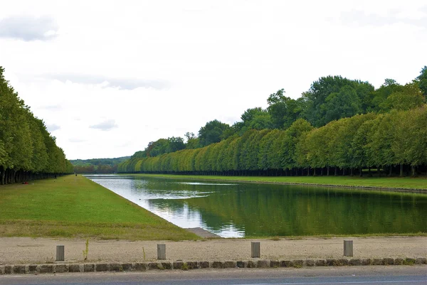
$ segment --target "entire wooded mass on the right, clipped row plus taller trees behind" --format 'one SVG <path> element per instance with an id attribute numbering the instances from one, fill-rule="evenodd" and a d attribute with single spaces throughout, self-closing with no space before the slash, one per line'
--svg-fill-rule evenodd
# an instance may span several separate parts
<path id="1" fill-rule="evenodd" d="M 214 120 L 196 136 L 152 141 L 122 173 L 216 175 L 416 175 L 427 165 L 427 66 L 412 82 L 320 77 L 302 96 L 281 89 L 232 126 Z M 379 171 L 378 171 L 379 172 Z"/>

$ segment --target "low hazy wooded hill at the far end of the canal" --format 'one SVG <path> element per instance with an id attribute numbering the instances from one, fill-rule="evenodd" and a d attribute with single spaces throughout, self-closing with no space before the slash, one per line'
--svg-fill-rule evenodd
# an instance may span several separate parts
<path id="1" fill-rule="evenodd" d="M 123 156 L 118 158 L 93 158 L 93 159 L 75 159 L 70 160 L 73 164 L 75 173 L 116 173 L 117 166 L 123 161 L 127 161 L 130 156 Z"/>

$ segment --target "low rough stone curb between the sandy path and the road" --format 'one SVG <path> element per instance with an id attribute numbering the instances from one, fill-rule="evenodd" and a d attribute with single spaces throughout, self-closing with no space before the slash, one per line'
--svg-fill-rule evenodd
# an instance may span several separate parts
<path id="1" fill-rule="evenodd" d="M 147 271 L 147 270 L 189 270 L 189 269 L 227 269 L 227 268 L 278 268 L 278 267 L 342 267 L 364 265 L 413 265 L 427 264 L 426 257 L 417 258 L 374 258 L 374 259 L 253 259 L 247 261 L 201 261 L 201 262 L 119 262 L 84 264 L 19 264 L 0 265 L 0 275 L 4 274 L 42 274 L 64 272 L 102 272 L 102 271 Z"/>

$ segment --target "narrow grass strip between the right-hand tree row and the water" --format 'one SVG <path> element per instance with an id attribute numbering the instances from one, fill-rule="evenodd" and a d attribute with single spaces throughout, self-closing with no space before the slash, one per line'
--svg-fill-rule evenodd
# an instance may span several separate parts
<path id="1" fill-rule="evenodd" d="M 166 174 L 133 174 L 136 176 L 182 178 L 234 182 L 334 185 L 360 188 L 426 190 L 426 177 L 359 177 L 359 176 L 181 176 Z"/>

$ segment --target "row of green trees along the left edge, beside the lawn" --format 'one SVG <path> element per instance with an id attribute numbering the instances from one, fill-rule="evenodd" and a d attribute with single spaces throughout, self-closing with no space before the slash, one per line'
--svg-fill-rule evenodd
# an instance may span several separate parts
<path id="1" fill-rule="evenodd" d="M 0 67 L 0 184 L 73 173 L 41 119 L 18 97 Z"/>

